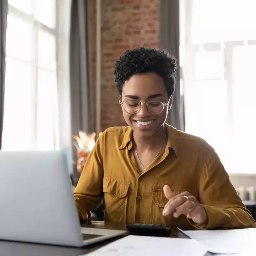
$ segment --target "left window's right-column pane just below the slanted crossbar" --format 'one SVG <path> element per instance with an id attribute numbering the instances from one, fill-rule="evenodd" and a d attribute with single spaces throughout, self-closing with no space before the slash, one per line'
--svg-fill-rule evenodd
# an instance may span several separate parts
<path id="1" fill-rule="evenodd" d="M 55 37 L 40 30 L 38 33 L 38 65 L 48 70 L 56 69 Z"/>

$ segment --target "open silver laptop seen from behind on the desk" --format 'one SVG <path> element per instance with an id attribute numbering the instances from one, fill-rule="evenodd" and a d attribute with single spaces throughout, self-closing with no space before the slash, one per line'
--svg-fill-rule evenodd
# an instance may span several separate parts
<path id="1" fill-rule="evenodd" d="M 82 247 L 125 232 L 80 228 L 61 151 L 0 151 L 0 240 Z"/>

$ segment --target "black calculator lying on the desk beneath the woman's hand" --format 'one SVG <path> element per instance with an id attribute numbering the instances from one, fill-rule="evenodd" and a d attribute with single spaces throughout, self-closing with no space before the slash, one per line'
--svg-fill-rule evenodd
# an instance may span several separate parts
<path id="1" fill-rule="evenodd" d="M 127 224 L 126 229 L 131 235 L 136 236 L 170 236 L 171 228 L 165 225 L 157 224 Z"/>

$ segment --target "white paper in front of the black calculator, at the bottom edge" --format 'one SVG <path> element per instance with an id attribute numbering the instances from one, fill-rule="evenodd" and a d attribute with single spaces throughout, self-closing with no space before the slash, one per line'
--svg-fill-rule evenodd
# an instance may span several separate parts
<path id="1" fill-rule="evenodd" d="M 196 240 L 184 238 L 126 236 L 89 253 L 90 256 L 203 256 L 207 250 Z"/>

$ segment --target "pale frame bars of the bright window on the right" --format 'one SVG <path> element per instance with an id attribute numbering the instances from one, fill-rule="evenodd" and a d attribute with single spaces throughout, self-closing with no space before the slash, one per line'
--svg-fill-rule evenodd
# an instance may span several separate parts
<path id="1" fill-rule="evenodd" d="M 256 39 L 254 40 L 245 40 L 245 41 L 225 41 L 225 42 L 218 42 L 218 43 L 203 43 L 203 44 L 192 44 L 192 6 L 193 6 L 193 0 L 191 1 L 184 1 L 180 0 L 182 3 L 183 15 L 185 19 L 184 22 L 184 28 L 183 33 L 185 32 L 184 40 L 183 40 L 183 51 L 184 51 L 184 58 L 183 58 L 183 78 L 184 78 L 184 100 L 186 103 L 186 97 L 189 97 L 189 95 L 186 95 L 186 81 L 190 83 L 193 82 L 202 82 L 202 81 L 212 81 L 212 80 L 224 80 L 227 83 L 227 106 L 228 106 L 228 137 L 230 139 L 234 139 L 234 105 L 233 105 L 233 50 L 236 46 L 250 46 L 254 45 L 256 46 Z M 196 78 L 196 72 L 195 72 L 195 60 L 196 60 L 196 54 L 199 52 L 212 52 L 212 51 L 223 51 L 224 56 L 224 76 L 222 79 L 197 79 Z M 186 113 L 186 106 L 185 104 L 185 113 Z M 186 131 L 186 126 L 185 126 Z M 250 172 L 251 171 L 251 172 Z M 256 174 L 253 173 L 253 168 L 251 170 L 245 171 L 246 173 L 250 174 Z M 244 173 L 245 173 L 244 172 Z M 255 171 L 254 171 L 255 172 Z M 232 170 L 228 170 L 228 173 L 238 173 L 238 172 L 232 172 Z"/>

